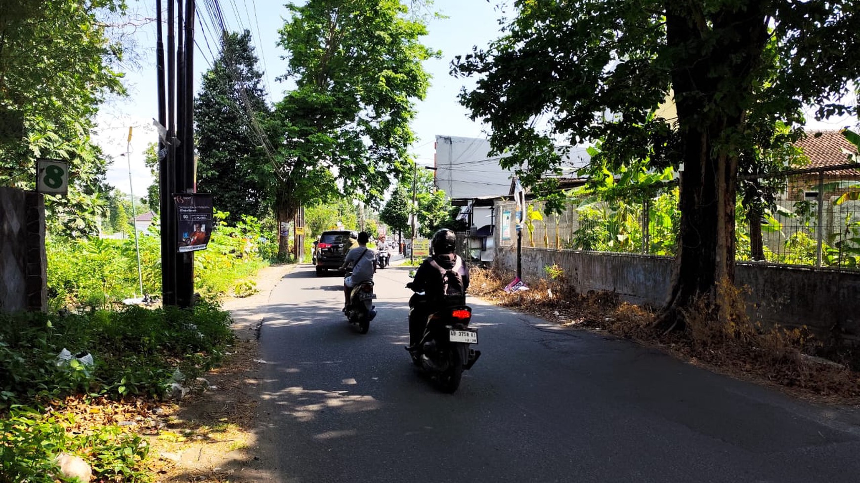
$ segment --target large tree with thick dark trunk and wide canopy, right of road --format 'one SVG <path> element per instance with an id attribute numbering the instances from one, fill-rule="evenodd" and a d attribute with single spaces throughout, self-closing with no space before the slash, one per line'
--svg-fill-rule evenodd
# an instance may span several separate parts
<path id="1" fill-rule="evenodd" d="M 457 57 L 476 75 L 461 100 L 487 123 L 501 164 L 524 184 L 559 173 L 559 143 L 601 142 L 596 163 L 683 166 L 675 324 L 701 297 L 725 315 L 734 281 L 740 153 L 763 125 L 853 112 L 860 75 L 856 0 L 518 0 L 488 50 Z M 658 106 L 673 102 L 677 118 Z M 760 136 L 759 136 L 760 137 Z M 679 310 L 680 309 L 680 310 Z"/>

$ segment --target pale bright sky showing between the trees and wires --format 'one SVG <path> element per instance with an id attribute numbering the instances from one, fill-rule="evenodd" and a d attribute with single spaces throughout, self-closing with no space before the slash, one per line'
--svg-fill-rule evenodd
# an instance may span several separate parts
<path id="1" fill-rule="evenodd" d="M 168 0 L 169 1 L 169 0 Z M 154 18 L 154 1 L 131 3 L 132 13 Z M 465 85 L 471 86 L 468 79 L 456 79 L 448 74 L 451 59 L 465 54 L 473 45 L 485 47 L 499 34 L 499 13 L 493 3 L 485 0 L 436 0 L 434 8 L 447 15 L 446 19 L 433 19 L 428 25 L 429 34 L 423 38 L 425 45 L 442 51 L 442 57 L 427 61 L 426 69 L 433 75 L 427 99 L 417 104 L 417 117 L 413 124 L 418 142 L 412 152 L 419 164 L 433 164 L 433 142 L 436 135 L 483 137 L 480 124 L 468 118 L 467 111 L 458 104 L 457 95 Z M 199 9 L 204 3 L 199 2 Z M 231 30 L 248 28 L 254 39 L 259 67 L 266 74 L 266 88 L 269 100 L 279 100 L 286 85 L 274 79 L 284 73 L 286 62 L 281 60 L 285 52 L 275 45 L 278 29 L 283 25 L 286 9 L 283 3 L 275 0 L 221 0 L 225 21 Z M 207 25 L 208 15 L 199 11 L 199 17 Z M 199 20 L 200 20 L 199 18 Z M 200 21 L 195 24 L 194 37 L 200 49 L 195 51 L 194 70 L 197 73 L 195 89 L 200 88 L 200 75 L 208 69 L 217 55 L 217 41 L 214 33 L 204 27 L 201 33 Z M 116 188 L 129 191 L 129 169 L 126 158 L 126 138 L 128 127 L 133 127 L 130 147 L 132 183 L 135 196 L 145 193 L 153 181 L 144 166 L 143 151 L 150 142 L 157 141 L 152 127 L 152 118 L 157 118 L 155 89 L 155 45 L 156 26 L 149 22 L 133 33 L 138 42 L 135 49 L 142 57 L 138 69 L 126 73 L 126 98 L 111 99 L 103 106 L 98 118 L 98 135 L 95 136 L 106 154 L 114 157 L 114 163 L 107 173 L 107 182 Z M 208 39 L 208 45 L 206 40 Z M 210 51 L 211 50 L 211 51 Z"/>

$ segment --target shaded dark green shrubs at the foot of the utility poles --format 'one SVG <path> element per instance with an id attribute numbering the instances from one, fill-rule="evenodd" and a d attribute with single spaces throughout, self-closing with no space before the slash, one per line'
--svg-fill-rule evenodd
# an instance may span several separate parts
<path id="1" fill-rule="evenodd" d="M 194 310 L 0 314 L 0 409 L 77 392 L 163 395 L 175 369 L 197 377 L 232 340 L 229 313 L 206 299 Z M 58 366 L 64 348 L 95 366 Z"/>

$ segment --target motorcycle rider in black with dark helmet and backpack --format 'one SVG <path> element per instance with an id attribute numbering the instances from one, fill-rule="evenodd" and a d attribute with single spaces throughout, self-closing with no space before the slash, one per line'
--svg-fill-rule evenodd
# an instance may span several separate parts
<path id="1" fill-rule="evenodd" d="M 415 272 L 415 280 L 406 287 L 415 291 L 409 299 L 409 346 L 407 350 L 415 350 L 424 335 L 427 317 L 441 306 L 464 305 L 466 289 L 469 288 L 469 267 L 454 251 L 457 249 L 457 235 L 447 228 L 433 233 L 430 242 L 432 254 L 427 257 Z M 445 282 L 442 274 L 445 270 L 457 267 L 457 273 L 463 279 L 463 293 L 451 297 L 443 293 Z M 420 292 L 424 294 L 421 295 Z"/>

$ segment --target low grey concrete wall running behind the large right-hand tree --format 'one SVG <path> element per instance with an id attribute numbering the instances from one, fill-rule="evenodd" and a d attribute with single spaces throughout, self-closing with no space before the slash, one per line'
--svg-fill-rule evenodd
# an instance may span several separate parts
<path id="1" fill-rule="evenodd" d="M 513 271 L 516 245 L 497 247 L 495 264 Z M 558 264 L 580 293 L 617 293 L 636 304 L 662 305 L 668 296 L 673 259 L 627 253 L 523 247 L 525 282 L 547 278 L 544 266 Z M 738 263 L 735 283 L 747 287 L 753 321 L 785 327 L 806 325 L 824 335 L 839 323 L 851 339 L 860 338 L 860 272 Z"/>

